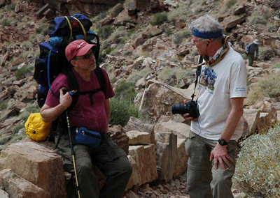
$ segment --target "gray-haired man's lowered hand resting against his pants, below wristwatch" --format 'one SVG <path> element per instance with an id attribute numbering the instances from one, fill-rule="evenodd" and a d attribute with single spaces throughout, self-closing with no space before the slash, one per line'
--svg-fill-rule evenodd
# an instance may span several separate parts
<path id="1" fill-rule="evenodd" d="M 220 162 L 222 169 L 225 169 L 225 165 L 223 164 L 223 162 L 225 162 L 228 167 L 231 167 L 228 160 L 234 162 L 234 160 L 230 158 L 230 155 L 228 155 L 227 146 L 221 146 L 221 144 L 219 143 L 217 143 L 213 151 L 211 151 L 210 161 L 213 160 L 213 158 L 215 169 L 218 169 L 218 162 Z"/>

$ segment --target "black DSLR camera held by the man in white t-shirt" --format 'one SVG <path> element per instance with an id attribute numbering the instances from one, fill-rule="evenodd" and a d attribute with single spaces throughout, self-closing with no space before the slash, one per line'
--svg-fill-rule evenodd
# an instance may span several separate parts
<path id="1" fill-rule="evenodd" d="M 186 105 L 172 105 L 172 114 L 190 114 L 190 117 L 197 119 L 200 111 L 197 107 L 197 101 L 189 101 Z"/>

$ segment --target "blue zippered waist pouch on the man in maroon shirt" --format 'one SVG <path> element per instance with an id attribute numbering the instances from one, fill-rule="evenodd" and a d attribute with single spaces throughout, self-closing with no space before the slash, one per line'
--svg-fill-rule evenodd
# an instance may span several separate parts
<path id="1" fill-rule="evenodd" d="M 76 143 L 83 144 L 90 148 L 98 148 L 101 142 L 101 135 L 97 131 L 87 130 L 84 127 L 76 128 Z"/>

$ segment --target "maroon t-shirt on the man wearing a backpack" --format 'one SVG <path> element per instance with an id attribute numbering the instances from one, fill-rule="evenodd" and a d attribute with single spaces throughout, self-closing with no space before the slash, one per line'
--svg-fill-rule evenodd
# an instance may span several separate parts
<path id="1" fill-rule="evenodd" d="M 76 72 L 76 70 L 72 70 L 76 76 L 80 91 L 92 91 L 100 88 L 98 78 L 94 71 L 91 73 L 90 82 L 87 82 Z M 115 96 L 115 93 L 113 92 L 108 74 L 104 69 L 102 69 L 102 72 L 106 79 L 106 96 L 104 96 L 103 91 L 98 91 L 97 93 L 92 94 L 94 102 L 92 105 L 88 94 L 80 95 L 75 107 L 69 111 L 69 122 L 71 126 L 85 127 L 89 130 L 106 132 L 108 120 L 106 116 L 105 99 L 112 98 Z M 55 78 L 55 81 L 52 82 L 51 86 L 52 91 L 57 96 L 59 96 L 59 89 L 62 87 L 69 89 L 66 75 L 63 73 L 59 74 Z M 50 107 L 55 107 L 59 105 L 59 99 L 55 98 L 49 90 L 45 104 Z"/>

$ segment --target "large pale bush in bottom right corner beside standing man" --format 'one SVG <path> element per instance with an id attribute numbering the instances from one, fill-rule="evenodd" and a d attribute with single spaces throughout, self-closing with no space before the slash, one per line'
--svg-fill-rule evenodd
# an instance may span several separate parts
<path id="1" fill-rule="evenodd" d="M 280 197 L 280 124 L 241 142 L 234 187 L 253 197 Z"/>

